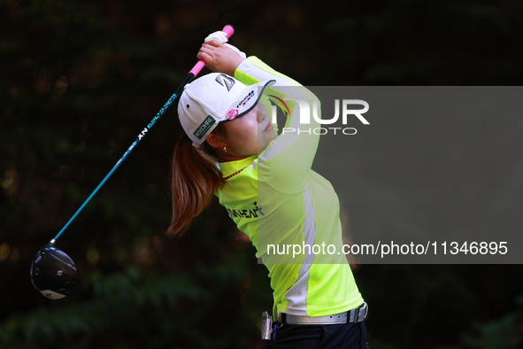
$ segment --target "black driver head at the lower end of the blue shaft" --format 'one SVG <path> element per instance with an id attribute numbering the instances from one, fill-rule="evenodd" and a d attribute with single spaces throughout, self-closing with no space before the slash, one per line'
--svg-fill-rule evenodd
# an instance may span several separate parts
<path id="1" fill-rule="evenodd" d="M 62 250 L 46 244 L 31 263 L 31 282 L 48 299 L 63 299 L 73 291 L 76 266 Z"/>

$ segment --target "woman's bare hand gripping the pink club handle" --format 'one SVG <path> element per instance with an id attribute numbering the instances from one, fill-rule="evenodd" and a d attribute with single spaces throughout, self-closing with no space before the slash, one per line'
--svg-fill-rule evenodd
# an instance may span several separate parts
<path id="1" fill-rule="evenodd" d="M 196 57 L 204 60 L 212 72 L 225 73 L 230 76 L 235 76 L 236 68 L 244 59 L 235 50 L 214 40 L 204 43 Z"/>

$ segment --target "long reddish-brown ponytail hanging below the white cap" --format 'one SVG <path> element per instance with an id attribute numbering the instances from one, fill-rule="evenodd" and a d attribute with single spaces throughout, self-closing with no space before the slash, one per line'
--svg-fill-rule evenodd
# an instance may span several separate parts
<path id="1" fill-rule="evenodd" d="M 222 124 L 213 133 L 227 137 Z M 206 142 L 201 148 L 194 147 L 186 135 L 180 137 L 174 148 L 171 174 L 173 218 L 167 235 L 185 233 L 196 216 L 211 204 L 223 181 L 216 167 L 216 152 Z"/>

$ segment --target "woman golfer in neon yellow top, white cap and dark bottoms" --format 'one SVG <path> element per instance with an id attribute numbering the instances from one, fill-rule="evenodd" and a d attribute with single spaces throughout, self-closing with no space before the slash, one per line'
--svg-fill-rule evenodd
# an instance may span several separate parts
<path id="1" fill-rule="evenodd" d="M 186 136 L 173 154 L 168 234 L 186 231 L 216 195 L 269 271 L 274 322 L 263 324 L 260 348 L 365 349 L 367 306 L 349 263 L 340 253 L 311 252 L 342 244 L 335 190 L 311 170 L 319 123 L 305 117 L 314 96 L 226 41 L 221 32 L 207 37 L 197 58 L 214 73 L 180 97 Z M 286 118 L 281 131 L 274 110 Z"/>

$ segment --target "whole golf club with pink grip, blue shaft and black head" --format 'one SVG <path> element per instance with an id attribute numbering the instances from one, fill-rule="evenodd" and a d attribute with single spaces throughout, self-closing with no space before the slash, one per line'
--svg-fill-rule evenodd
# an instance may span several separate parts
<path id="1" fill-rule="evenodd" d="M 223 27 L 222 31 L 227 34 L 227 38 L 235 33 L 234 27 L 230 25 Z M 156 124 L 158 119 L 161 118 L 169 106 L 173 104 L 173 101 L 176 99 L 176 97 L 180 96 L 181 92 L 183 91 L 183 87 L 192 81 L 196 75 L 200 73 L 204 66 L 205 62 L 203 60 L 199 60 L 198 63 L 196 63 L 196 65 L 189 71 L 187 78 L 185 78 L 185 80 L 181 82 L 181 85 L 178 87 L 178 89 L 174 91 L 173 96 L 167 100 L 162 109 L 160 109 L 154 118 L 150 120 L 149 124 L 143 128 L 135 142 L 131 144 L 124 155 L 118 160 L 116 165 L 112 167 L 109 174 L 105 176 L 104 180 L 98 184 L 96 189 L 80 206 L 78 211 L 73 214 L 73 217 L 67 221 L 64 228 L 58 232 L 56 237 L 50 240 L 49 244 L 42 246 L 42 248 L 36 253 L 35 259 L 31 263 L 31 282 L 35 286 L 36 290 L 40 291 L 42 295 L 48 299 L 63 299 L 73 290 L 74 283 L 76 283 L 76 266 L 74 265 L 73 260 L 67 254 L 65 254 L 65 252 L 61 251 L 58 249 L 58 247 L 55 246 L 58 237 L 62 235 L 65 229 L 67 229 L 71 222 L 76 218 L 78 213 L 80 213 L 81 210 L 88 204 L 89 200 L 95 196 L 96 192 L 102 188 L 104 183 L 109 179 L 109 177 L 111 177 L 122 161 L 127 158 L 127 155 L 129 155 L 129 153 L 135 149 L 135 146 L 140 143 L 142 138 L 147 135 L 150 128 Z"/>

